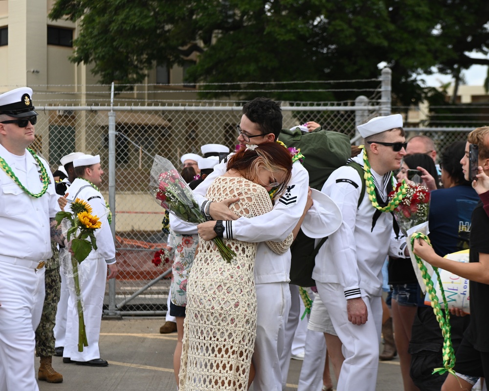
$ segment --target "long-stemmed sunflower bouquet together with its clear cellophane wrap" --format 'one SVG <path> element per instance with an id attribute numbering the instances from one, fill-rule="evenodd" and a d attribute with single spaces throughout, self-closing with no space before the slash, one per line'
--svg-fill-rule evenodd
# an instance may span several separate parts
<path id="1" fill-rule="evenodd" d="M 97 249 L 95 230 L 102 226 L 101 220 L 108 223 L 109 211 L 107 210 L 101 217 L 93 216 L 89 204 L 79 198 L 68 203 L 66 208 L 69 211 L 56 214 L 56 221 L 61 224 L 62 233 L 68 240 L 67 247 L 60 249 L 60 269 L 65 276 L 69 294 L 76 305 L 78 351 L 83 351 L 83 348 L 88 346 L 88 341 L 83 316 L 82 289 L 89 279 L 90 268 L 93 267 L 92 262 L 86 259 L 93 249 Z"/>

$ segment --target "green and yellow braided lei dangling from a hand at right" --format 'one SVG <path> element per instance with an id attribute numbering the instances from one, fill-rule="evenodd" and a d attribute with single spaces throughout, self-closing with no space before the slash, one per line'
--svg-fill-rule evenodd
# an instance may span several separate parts
<path id="1" fill-rule="evenodd" d="M 415 239 L 423 239 L 426 243 L 431 246 L 430 240 L 428 237 L 421 232 L 417 232 L 411 236 L 411 248 L 414 248 L 414 240 Z M 443 303 L 445 304 L 445 315 L 442 311 L 442 307 L 440 306 L 438 297 L 436 295 L 436 290 L 433 288 L 433 281 L 431 280 L 430 275 L 428 274 L 428 270 L 426 266 L 422 262 L 422 259 L 415 255 L 416 262 L 418 263 L 418 267 L 421 270 L 422 278 L 424 284 L 426 285 L 426 290 L 428 291 L 429 298 L 431 300 L 431 306 L 433 308 L 433 312 L 436 316 L 436 320 L 438 321 L 440 328 L 442 329 L 443 335 L 443 368 L 435 368 L 433 369 L 433 374 L 438 373 L 440 375 L 445 372 L 451 373 L 455 375 L 455 371 L 453 367 L 455 366 L 455 353 L 453 351 L 453 346 L 451 342 L 451 328 L 450 328 L 450 311 L 448 310 L 448 303 L 445 298 L 445 291 L 443 290 L 442 280 L 440 278 L 440 273 L 438 272 L 438 267 L 433 266 L 433 270 L 436 273 L 436 278 L 438 280 L 438 286 L 440 287 L 440 291 L 442 293 Z"/>

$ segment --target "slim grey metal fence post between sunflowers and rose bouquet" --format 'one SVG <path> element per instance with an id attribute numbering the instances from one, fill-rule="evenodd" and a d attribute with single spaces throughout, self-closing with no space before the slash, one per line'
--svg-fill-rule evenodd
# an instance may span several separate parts
<path id="1" fill-rule="evenodd" d="M 114 83 L 111 87 L 111 111 L 109 111 L 109 206 L 111 208 L 111 231 L 115 240 L 115 112 Z M 120 316 L 115 307 L 115 278 L 109 280 L 109 316 Z"/>

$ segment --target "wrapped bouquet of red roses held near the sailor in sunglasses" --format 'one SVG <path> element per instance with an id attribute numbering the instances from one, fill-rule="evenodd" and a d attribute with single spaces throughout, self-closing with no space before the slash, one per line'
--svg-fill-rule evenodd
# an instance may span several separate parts
<path id="1" fill-rule="evenodd" d="M 397 184 L 396 190 L 391 193 L 394 194 L 400 187 L 400 182 Z M 406 194 L 403 195 L 400 204 L 394 209 L 394 216 L 399 225 L 400 231 L 404 235 L 407 241 L 407 247 L 409 250 L 409 257 L 413 264 L 413 269 L 416 273 L 416 278 L 421 286 L 423 293 L 426 292 L 426 286 L 422 277 L 422 271 L 418 266 L 418 261 L 411 251 L 409 244 L 409 238 L 415 232 L 421 232 L 424 235 L 428 235 L 428 213 L 429 213 L 429 200 L 430 194 L 428 188 L 414 182 L 408 182 L 405 184 Z M 433 275 L 433 267 L 425 261 L 422 261 L 424 266 L 428 270 L 430 276 Z"/>

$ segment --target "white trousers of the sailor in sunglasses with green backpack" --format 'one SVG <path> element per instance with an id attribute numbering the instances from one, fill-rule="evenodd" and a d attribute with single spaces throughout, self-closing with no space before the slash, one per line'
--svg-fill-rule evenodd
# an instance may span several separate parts
<path id="1" fill-rule="evenodd" d="M 331 316 L 334 330 L 343 344 L 345 361 L 341 367 L 336 390 L 375 391 L 382 325 L 380 296 L 362 297 L 367 305 L 368 320 L 364 325 L 357 326 L 348 321 L 346 299 L 341 285 L 316 283 L 319 296 Z"/>

